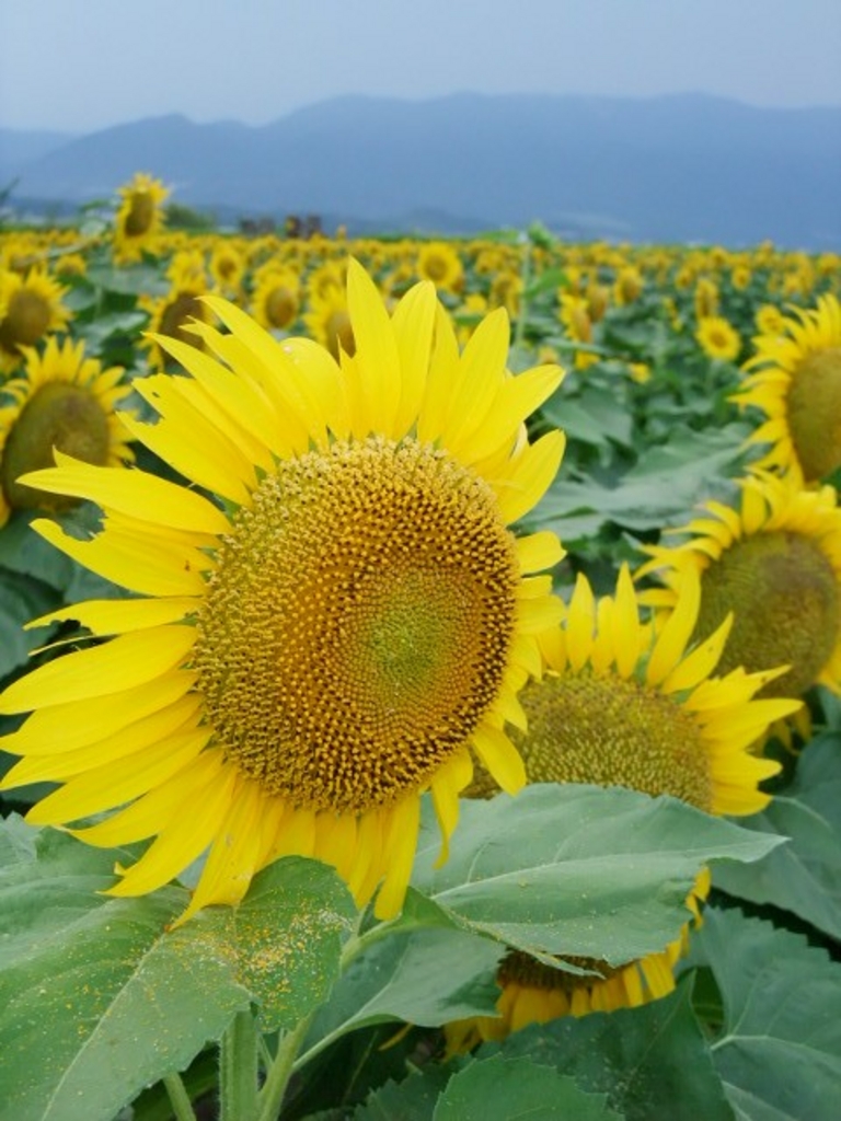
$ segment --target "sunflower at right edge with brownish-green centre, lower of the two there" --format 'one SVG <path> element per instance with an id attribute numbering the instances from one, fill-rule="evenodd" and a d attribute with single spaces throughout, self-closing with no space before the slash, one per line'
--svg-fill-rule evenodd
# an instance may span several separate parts
<path id="1" fill-rule="evenodd" d="M 646 597 L 669 608 L 686 568 L 701 577 L 697 632 L 733 613 L 720 669 L 791 668 L 765 695 L 800 697 L 815 684 L 841 693 L 841 510 L 832 487 L 802 490 L 757 471 L 740 480 L 741 504 L 706 502 L 702 517 L 648 546 L 639 575 L 665 585 Z"/>

